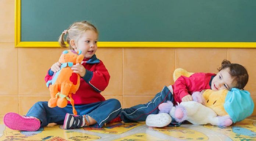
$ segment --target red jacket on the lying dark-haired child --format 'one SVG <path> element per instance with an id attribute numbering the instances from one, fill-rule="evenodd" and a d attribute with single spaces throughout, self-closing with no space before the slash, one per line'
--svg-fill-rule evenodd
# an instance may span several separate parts
<path id="1" fill-rule="evenodd" d="M 173 85 L 174 104 L 181 103 L 181 99 L 193 92 L 211 89 L 211 80 L 216 74 L 194 73 L 190 77 L 181 76 Z"/>

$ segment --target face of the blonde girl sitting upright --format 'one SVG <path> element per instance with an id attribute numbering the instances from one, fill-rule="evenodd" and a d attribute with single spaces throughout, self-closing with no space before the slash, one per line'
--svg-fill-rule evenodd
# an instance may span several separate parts
<path id="1" fill-rule="evenodd" d="M 85 58 L 91 58 L 97 51 L 98 34 L 93 30 L 86 30 L 76 42 L 77 49 L 82 51 Z M 75 51 L 77 51 L 75 49 Z"/>

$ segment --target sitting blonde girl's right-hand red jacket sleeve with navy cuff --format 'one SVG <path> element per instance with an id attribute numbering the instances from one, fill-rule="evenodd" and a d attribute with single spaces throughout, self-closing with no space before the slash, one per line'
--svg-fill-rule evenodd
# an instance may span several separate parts
<path id="1" fill-rule="evenodd" d="M 86 69 L 86 74 L 83 77 L 96 92 L 102 92 L 109 85 L 110 75 L 107 68 L 102 61 L 97 64 L 95 71 L 89 71 Z"/>

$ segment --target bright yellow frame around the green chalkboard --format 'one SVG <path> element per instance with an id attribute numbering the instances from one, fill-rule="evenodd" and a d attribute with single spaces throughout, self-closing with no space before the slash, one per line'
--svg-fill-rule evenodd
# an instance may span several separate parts
<path id="1" fill-rule="evenodd" d="M 60 47 L 58 42 L 21 41 L 21 0 L 15 0 L 15 47 Z M 98 42 L 105 48 L 256 48 L 256 42 Z"/>

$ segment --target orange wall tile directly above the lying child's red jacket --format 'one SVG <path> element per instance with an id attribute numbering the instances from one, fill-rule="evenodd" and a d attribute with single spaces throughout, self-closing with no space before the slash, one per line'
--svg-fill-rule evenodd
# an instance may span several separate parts
<path id="1" fill-rule="evenodd" d="M 223 59 L 227 59 L 226 48 L 176 49 L 176 68 L 184 68 L 189 72 L 217 73 Z"/>

